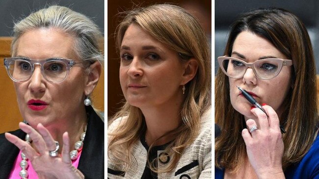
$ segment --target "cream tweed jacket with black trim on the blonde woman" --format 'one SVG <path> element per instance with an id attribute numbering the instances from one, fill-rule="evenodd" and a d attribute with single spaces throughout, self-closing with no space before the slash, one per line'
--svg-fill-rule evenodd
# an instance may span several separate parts
<path id="1" fill-rule="evenodd" d="M 118 118 L 108 127 L 108 132 L 116 130 L 125 117 Z M 145 141 L 145 140 L 144 140 Z M 147 163 L 147 150 L 142 140 L 136 142 L 132 150 L 132 161 L 127 171 L 124 171 L 124 164 L 108 153 L 107 177 L 109 179 L 143 179 L 144 169 Z M 169 157 L 161 161 L 164 148 L 157 149 L 159 158 L 158 168 L 168 162 Z M 168 158 L 168 160 L 167 160 Z M 176 168 L 170 173 L 158 174 L 158 179 L 211 179 L 212 178 L 212 117 L 211 110 L 205 112 L 201 118 L 201 128 L 194 142 L 187 146 Z"/>

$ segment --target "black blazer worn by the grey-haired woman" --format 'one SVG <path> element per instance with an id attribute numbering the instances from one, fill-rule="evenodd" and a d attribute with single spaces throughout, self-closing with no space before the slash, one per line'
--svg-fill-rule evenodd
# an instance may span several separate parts
<path id="1" fill-rule="evenodd" d="M 104 179 L 104 122 L 91 106 L 86 112 L 89 120 L 78 169 L 85 179 Z M 26 136 L 20 129 L 9 133 L 22 139 Z M 9 177 L 18 154 L 19 149 L 0 134 L 0 179 Z"/>

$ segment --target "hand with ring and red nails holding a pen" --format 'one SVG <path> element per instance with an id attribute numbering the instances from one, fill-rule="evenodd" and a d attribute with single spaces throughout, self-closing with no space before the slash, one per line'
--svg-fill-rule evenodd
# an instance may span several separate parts
<path id="1" fill-rule="evenodd" d="M 260 109 L 254 108 L 251 112 L 258 117 L 259 126 L 255 120 L 248 119 L 246 121 L 248 129 L 242 130 L 247 156 L 259 179 L 269 177 L 284 179 L 282 169 L 284 142 L 279 128 L 279 118 L 270 106 L 265 105 L 263 108 L 269 117 Z"/>

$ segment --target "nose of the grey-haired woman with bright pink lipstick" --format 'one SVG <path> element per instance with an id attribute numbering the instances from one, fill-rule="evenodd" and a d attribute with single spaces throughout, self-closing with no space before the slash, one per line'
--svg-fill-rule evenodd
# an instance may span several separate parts
<path id="1" fill-rule="evenodd" d="M 41 67 L 34 67 L 34 71 L 30 77 L 29 89 L 32 92 L 43 92 L 45 90 L 44 77 L 41 73 Z"/>

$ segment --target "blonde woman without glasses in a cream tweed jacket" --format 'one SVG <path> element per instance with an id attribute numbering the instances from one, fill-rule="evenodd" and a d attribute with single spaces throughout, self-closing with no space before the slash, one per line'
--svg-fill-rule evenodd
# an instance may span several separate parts
<path id="1" fill-rule="evenodd" d="M 211 178 L 211 56 L 181 7 L 128 12 L 117 28 L 126 99 L 108 126 L 111 179 Z"/>

